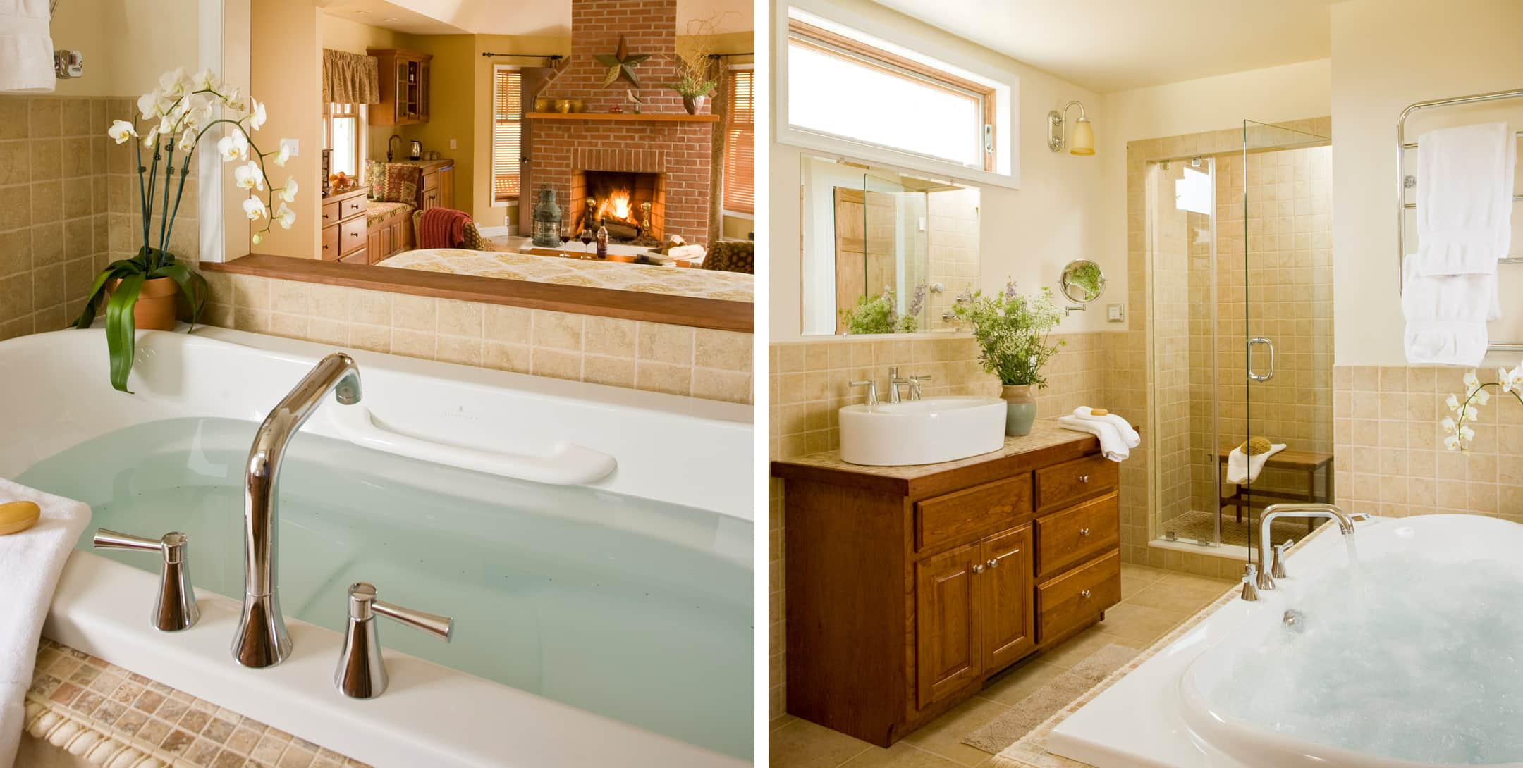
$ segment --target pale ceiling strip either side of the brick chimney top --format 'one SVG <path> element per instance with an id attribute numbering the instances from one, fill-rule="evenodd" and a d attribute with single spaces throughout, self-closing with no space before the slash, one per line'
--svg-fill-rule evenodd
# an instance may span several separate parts
<path id="1" fill-rule="evenodd" d="M 571 35 L 571 0 L 327 0 L 323 12 L 413 35 Z M 751 0 L 678 0 L 679 35 L 749 32 Z M 713 29 L 707 29 L 713 27 Z"/>

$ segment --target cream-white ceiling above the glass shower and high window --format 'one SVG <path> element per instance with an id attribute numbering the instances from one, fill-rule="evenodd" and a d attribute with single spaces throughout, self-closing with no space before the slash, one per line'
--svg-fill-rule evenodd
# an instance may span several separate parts
<path id="1" fill-rule="evenodd" d="M 1337 0 L 876 0 L 1095 93 L 1333 55 Z"/>

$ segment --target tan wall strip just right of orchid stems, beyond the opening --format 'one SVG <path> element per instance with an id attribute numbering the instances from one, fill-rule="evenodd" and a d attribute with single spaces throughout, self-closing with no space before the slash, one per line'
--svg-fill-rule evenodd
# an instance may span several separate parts
<path id="1" fill-rule="evenodd" d="M 268 166 L 271 179 L 295 176 L 300 193 L 291 208 L 291 230 L 271 228 L 257 252 L 315 259 L 320 248 L 323 167 L 323 46 L 321 11 L 315 0 L 254 0 L 250 17 L 250 90 L 265 103 L 268 122 L 254 134 L 271 152 L 282 138 L 300 141 L 300 155 L 283 169 Z M 231 222 L 230 222 L 231 224 Z"/>

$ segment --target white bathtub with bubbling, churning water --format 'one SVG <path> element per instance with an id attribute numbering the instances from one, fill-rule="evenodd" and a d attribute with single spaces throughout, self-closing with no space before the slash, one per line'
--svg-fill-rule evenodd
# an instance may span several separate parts
<path id="1" fill-rule="evenodd" d="M 1523 526 L 1372 519 L 1359 570 L 1328 528 L 1278 589 L 1221 605 L 1048 750 L 1100 768 L 1523 766 Z"/>

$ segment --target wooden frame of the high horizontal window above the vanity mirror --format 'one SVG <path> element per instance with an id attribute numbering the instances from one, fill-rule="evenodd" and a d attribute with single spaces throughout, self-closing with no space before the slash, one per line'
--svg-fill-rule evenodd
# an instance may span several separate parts
<path id="1" fill-rule="evenodd" d="M 984 119 L 984 125 L 981 126 L 978 135 L 978 146 L 984 157 L 984 164 L 981 170 L 998 173 L 999 158 L 996 157 L 996 152 L 999 146 L 998 143 L 999 120 L 996 119 L 998 94 L 993 85 L 985 85 L 982 82 L 975 82 L 967 78 L 959 78 L 956 75 L 952 75 L 950 71 L 940 70 L 937 67 L 928 65 L 924 62 L 906 56 L 900 56 L 894 52 L 883 50 L 876 46 L 868 46 L 862 41 L 851 40 L 845 35 L 810 24 L 807 21 L 801 21 L 798 18 L 787 20 L 787 41 L 784 43 L 784 47 L 793 43 L 813 49 L 827 56 L 836 56 L 848 59 L 854 64 L 862 64 L 870 68 L 876 68 L 894 78 L 911 79 L 920 85 L 931 85 L 946 93 L 978 99 L 979 105 L 982 106 L 981 116 Z M 807 131 L 807 128 L 798 128 L 798 129 Z M 851 137 L 839 137 L 839 138 L 845 141 L 857 141 Z M 889 149 L 892 152 L 905 152 L 918 157 L 926 157 L 937 163 L 955 164 L 955 161 L 947 158 L 921 155 L 920 152 L 914 152 L 903 148 L 876 144 L 871 141 L 859 141 L 859 143 L 868 146 L 882 146 L 883 149 Z M 964 167 L 973 167 L 973 166 L 964 166 Z"/>

